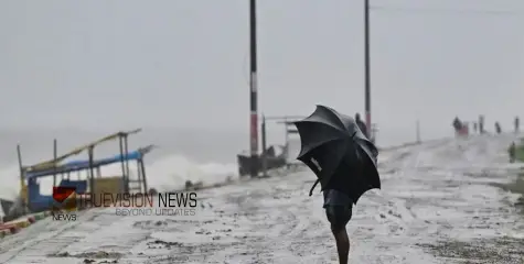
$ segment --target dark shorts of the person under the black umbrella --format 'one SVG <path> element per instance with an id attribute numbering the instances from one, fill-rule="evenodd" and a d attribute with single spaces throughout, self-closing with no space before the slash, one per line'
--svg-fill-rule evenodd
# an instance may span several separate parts
<path id="1" fill-rule="evenodd" d="M 345 194 L 327 189 L 324 190 L 324 209 L 328 221 L 331 223 L 331 230 L 339 231 L 344 229 L 351 220 L 353 211 L 353 201 Z"/>

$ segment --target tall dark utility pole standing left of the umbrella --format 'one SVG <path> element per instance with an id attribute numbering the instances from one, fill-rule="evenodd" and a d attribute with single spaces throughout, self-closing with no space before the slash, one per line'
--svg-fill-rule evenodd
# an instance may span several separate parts
<path id="1" fill-rule="evenodd" d="M 257 106 L 257 19 L 256 0 L 249 1 L 249 55 L 250 55 L 250 75 L 249 75 L 249 105 L 250 105 L 250 175 L 258 175 L 258 106 Z"/>

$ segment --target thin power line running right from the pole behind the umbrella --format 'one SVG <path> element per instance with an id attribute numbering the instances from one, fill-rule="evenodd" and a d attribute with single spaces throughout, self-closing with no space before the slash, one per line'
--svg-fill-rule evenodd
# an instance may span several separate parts
<path id="1" fill-rule="evenodd" d="M 491 16 L 524 16 L 523 11 L 511 10 L 474 10 L 474 9 L 434 9 L 434 8 L 408 8 L 408 7 L 386 7 L 370 6 L 370 10 L 387 13 L 411 13 L 411 14 L 449 14 L 449 15 L 491 15 Z"/>

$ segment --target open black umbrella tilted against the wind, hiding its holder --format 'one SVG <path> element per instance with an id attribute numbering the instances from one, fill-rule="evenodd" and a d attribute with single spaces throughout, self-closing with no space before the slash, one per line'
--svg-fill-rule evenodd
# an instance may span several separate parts
<path id="1" fill-rule="evenodd" d="M 365 191 L 381 188 L 376 168 L 378 151 L 353 118 L 317 106 L 310 117 L 295 122 L 295 125 L 301 141 L 297 160 L 308 165 L 318 177 L 310 196 L 319 182 L 324 190 L 333 175 L 349 177 L 345 182 L 351 184 L 350 197 L 354 204 Z M 359 169 L 356 174 L 355 168 Z"/>

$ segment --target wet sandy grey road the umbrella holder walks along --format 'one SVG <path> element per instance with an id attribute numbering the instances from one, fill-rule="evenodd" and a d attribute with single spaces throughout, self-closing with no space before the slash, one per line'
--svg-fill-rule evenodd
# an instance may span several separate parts
<path id="1" fill-rule="evenodd" d="M 349 224 L 352 263 L 522 263 L 515 196 L 491 185 L 512 180 L 510 140 L 383 153 L 383 189 L 359 201 Z M 0 263 L 336 263 L 321 195 L 308 197 L 313 179 L 302 172 L 202 190 L 194 217 L 107 208 L 42 220 L 0 241 Z M 486 245 L 498 252 L 480 254 Z"/>

